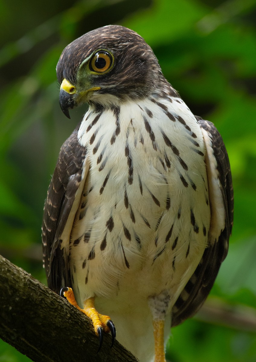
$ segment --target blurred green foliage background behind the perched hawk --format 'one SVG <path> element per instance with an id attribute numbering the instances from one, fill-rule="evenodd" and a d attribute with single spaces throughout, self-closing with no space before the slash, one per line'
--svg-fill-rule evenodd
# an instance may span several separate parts
<path id="1" fill-rule="evenodd" d="M 152 47 L 168 81 L 226 144 L 235 193 L 230 251 L 208 303 L 256 319 L 256 0 L 0 1 L 0 253 L 46 283 L 43 204 L 71 120 L 58 104 L 55 67 L 89 30 L 120 24 Z M 217 303 L 217 304 L 216 304 Z M 225 315 L 225 313 L 224 313 Z M 231 318 L 231 319 L 232 319 Z M 234 321 L 234 320 L 233 320 Z M 231 323 L 232 324 L 232 323 Z M 256 362 L 255 325 L 203 313 L 172 329 L 172 362 Z M 30 361 L 0 340 L 0 361 Z"/>

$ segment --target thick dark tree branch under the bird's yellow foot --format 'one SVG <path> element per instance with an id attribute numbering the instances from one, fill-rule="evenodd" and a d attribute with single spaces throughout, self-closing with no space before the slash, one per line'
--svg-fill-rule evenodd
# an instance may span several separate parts
<path id="1" fill-rule="evenodd" d="M 35 362 L 138 362 L 121 344 L 98 339 L 64 298 L 0 256 L 0 337 Z"/>

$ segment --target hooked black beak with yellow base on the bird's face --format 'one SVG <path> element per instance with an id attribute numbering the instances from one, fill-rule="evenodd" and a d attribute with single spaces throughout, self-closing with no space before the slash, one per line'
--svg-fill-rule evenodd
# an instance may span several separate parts
<path id="1" fill-rule="evenodd" d="M 59 93 L 59 104 L 60 108 L 66 117 L 70 118 L 69 109 L 73 109 L 74 106 L 77 106 L 76 102 L 76 87 L 72 85 L 67 79 L 63 79 L 60 86 Z"/>

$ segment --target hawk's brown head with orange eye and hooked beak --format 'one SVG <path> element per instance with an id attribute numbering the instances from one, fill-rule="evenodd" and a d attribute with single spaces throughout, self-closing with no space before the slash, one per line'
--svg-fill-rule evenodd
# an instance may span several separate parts
<path id="1" fill-rule="evenodd" d="M 161 69 L 152 49 L 133 30 L 118 25 L 89 31 L 70 43 L 57 64 L 59 102 L 69 108 L 84 102 L 109 103 L 148 96 Z M 112 98 L 111 98 L 112 97 Z"/>

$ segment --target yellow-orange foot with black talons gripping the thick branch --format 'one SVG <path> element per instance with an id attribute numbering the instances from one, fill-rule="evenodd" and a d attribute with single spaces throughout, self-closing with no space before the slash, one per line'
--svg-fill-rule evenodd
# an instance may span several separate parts
<path id="1" fill-rule="evenodd" d="M 76 303 L 75 295 L 71 288 L 68 288 L 68 287 L 62 288 L 62 290 L 60 291 L 60 296 L 62 296 L 62 295 L 64 295 L 67 298 L 68 302 L 70 302 L 80 312 L 84 313 L 85 315 L 87 315 L 87 317 L 89 317 L 91 319 L 94 330 L 95 330 L 95 334 L 96 334 L 96 336 L 99 337 L 100 344 L 99 344 L 98 352 L 101 349 L 101 345 L 102 345 L 102 341 L 103 341 L 102 331 L 105 333 L 111 332 L 111 335 L 112 335 L 111 347 L 112 347 L 114 344 L 114 341 L 116 339 L 116 328 L 109 316 L 105 316 L 96 311 L 96 309 L 94 307 L 95 298 L 92 297 L 92 298 L 86 299 L 84 302 L 84 309 L 81 309 L 79 307 L 79 305 Z"/>

